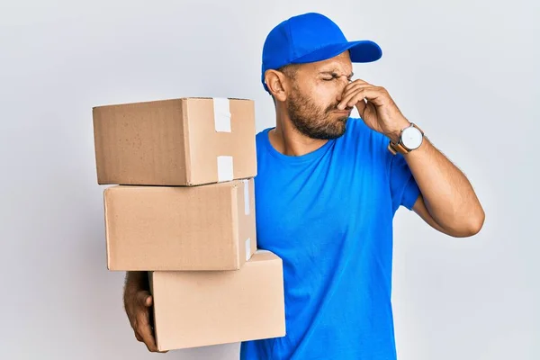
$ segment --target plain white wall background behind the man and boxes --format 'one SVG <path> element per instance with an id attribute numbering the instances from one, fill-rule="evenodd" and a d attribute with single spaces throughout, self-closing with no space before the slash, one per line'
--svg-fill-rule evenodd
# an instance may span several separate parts
<path id="1" fill-rule="evenodd" d="M 268 31 L 329 15 L 383 58 L 356 75 L 385 86 L 473 182 L 474 238 L 396 218 L 401 360 L 538 359 L 537 110 L 540 3 L 516 0 L 3 1 L 0 4 L 0 358 L 235 359 L 238 344 L 149 354 L 105 266 L 92 106 L 178 96 L 247 97 Z"/>

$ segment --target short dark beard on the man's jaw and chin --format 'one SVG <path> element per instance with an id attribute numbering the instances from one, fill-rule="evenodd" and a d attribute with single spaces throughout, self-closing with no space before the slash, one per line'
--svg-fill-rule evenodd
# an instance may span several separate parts
<path id="1" fill-rule="evenodd" d="M 294 86 L 295 87 L 295 86 Z M 333 115 L 338 103 L 322 108 L 294 88 L 287 103 L 294 128 L 311 139 L 337 139 L 345 133 L 348 116 Z"/>

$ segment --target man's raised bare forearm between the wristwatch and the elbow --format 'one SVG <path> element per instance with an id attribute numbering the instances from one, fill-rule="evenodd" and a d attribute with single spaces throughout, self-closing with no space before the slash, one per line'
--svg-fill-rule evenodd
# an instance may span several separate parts
<path id="1" fill-rule="evenodd" d="M 420 148 L 405 155 L 424 203 L 437 224 L 454 233 L 476 233 L 484 211 L 473 186 L 452 162 L 426 138 Z"/>

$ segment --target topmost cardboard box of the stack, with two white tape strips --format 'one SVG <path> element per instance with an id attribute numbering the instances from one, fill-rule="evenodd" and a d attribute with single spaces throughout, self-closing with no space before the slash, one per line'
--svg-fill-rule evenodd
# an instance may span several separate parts
<path id="1" fill-rule="evenodd" d="M 93 108 L 98 184 L 197 185 L 257 175 L 251 100 L 180 98 Z"/>

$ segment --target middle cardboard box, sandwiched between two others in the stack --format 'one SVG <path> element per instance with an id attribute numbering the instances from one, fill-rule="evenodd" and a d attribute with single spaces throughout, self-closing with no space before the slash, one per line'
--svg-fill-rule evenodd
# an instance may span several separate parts
<path id="1" fill-rule="evenodd" d="M 104 191 L 109 270 L 238 270 L 257 250 L 254 180 Z"/>

